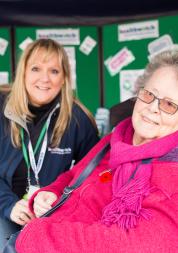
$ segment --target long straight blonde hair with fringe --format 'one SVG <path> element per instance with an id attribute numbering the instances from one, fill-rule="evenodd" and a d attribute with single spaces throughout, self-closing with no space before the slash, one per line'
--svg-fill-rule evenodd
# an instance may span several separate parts
<path id="1" fill-rule="evenodd" d="M 68 56 L 64 48 L 59 43 L 51 39 L 39 39 L 27 46 L 18 62 L 16 77 L 7 102 L 11 104 L 14 113 L 18 117 L 25 117 L 27 121 L 31 121 L 33 119 L 34 115 L 29 111 L 28 108 L 29 99 L 25 88 L 25 70 L 29 59 L 33 55 L 38 54 L 39 50 L 44 50 L 45 59 L 54 53 L 57 54 L 64 73 L 64 85 L 62 86 L 59 95 L 60 113 L 51 136 L 51 146 L 55 147 L 60 143 L 63 133 L 71 119 L 72 105 L 74 102 Z M 79 105 L 81 106 L 80 102 Z M 85 107 L 82 105 L 81 108 Z M 89 111 L 86 108 L 84 111 L 93 121 L 93 117 Z M 21 147 L 20 126 L 13 121 L 11 121 L 11 139 L 14 146 Z"/>

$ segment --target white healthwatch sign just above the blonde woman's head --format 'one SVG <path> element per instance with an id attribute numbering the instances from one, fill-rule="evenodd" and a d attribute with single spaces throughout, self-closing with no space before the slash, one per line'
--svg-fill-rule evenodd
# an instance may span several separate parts
<path id="1" fill-rule="evenodd" d="M 53 39 L 61 45 L 79 45 L 79 29 L 41 29 L 36 30 L 37 39 Z"/>

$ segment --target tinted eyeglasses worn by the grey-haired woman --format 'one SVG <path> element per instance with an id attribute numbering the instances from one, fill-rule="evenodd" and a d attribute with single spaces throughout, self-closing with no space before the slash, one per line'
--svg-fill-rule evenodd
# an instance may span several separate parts
<path id="1" fill-rule="evenodd" d="M 146 104 L 151 104 L 153 101 L 155 101 L 155 99 L 157 99 L 159 110 L 171 115 L 176 113 L 178 110 L 178 105 L 175 103 L 164 98 L 157 98 L 152 92 L 143 88 L 139 90 L 137 98 Z"/>

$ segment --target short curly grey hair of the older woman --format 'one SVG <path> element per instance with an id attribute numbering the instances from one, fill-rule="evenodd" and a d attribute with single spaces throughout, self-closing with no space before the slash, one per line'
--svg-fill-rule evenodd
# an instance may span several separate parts
<path id="1" fill-rule="evenodd" d="M 135 92 L 138 92 L 140 88 L 144 88 L 154 72 L 163 67 L 175 69 L 175 73 L 178 77 L 178 49 L 166 50 L 153 57 L 146 66 L 143 75 L 137 78 Z"/>

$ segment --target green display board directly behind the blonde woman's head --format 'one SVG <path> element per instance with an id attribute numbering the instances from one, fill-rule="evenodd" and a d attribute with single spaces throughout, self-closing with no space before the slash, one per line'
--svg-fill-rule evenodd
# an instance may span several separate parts
<path id="1" fill-rule="evenodd" d="M 15 50 L 16 50 L 16 63 L 20 54 L 22 53 L 21 48 L 23 48 L 23 43 L 30 40 L 35 40 L 39 38 L 39 30 L 47 32 L 50 38 L 55 39 L 56 37 L 63 36 L 67 38 L 67 29 L 74 29 L 78 31 L 78 43 L 75 39 L 71 39 L 65 42 L 64 47 L 72 47 L 75 51 L 76 59 L 76 96 L 80 101 L 92 112 L 95 113 L 96 109 L 99 107 L 99 90 L 100 90 L 100 80 L 99 80 L 99 57 L 98 57 L 98 30 L 96 27 L 16 27 L 15 28 Z M 61 34 L 60 34 L 61 32 Z M 65 34 L 66 33 L 66 34 Z M 43 34 L 44 35 L 44 34 Z M 65 36 L 64 36 L 65 35 Z M 70 34 L 71 36 L 71 34 Z M 93 39 L 96 45 L 92 48 L 91 52 L 85 54 L 80 50 L 80 46 L 84 39 Z M 74 36 L 75 37 L 75 36 Z M 73 42 L 72 42 L 73 41 Z M 90 41 L 89 41 L 90 42 Z M 62 43 L 61 43 L 62 44 Z M 89 43 L 90 44 L 90 43 Z M 20 47 L 19 47 L 20 46 Z M 85 43 L 85 46 L 86 43 Z"/>

